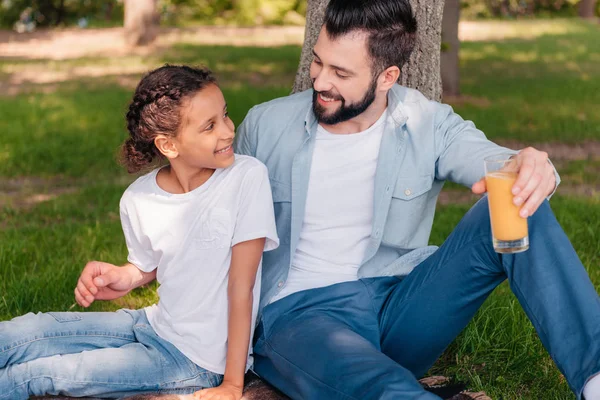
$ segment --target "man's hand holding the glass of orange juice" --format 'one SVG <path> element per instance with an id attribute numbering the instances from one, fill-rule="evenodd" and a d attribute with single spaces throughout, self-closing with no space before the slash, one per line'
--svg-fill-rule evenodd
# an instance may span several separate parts
<path id="1" fill-rule="evenodd" d="M 554 168 L 548 162 L 548 153 L 533 147 L 521 150 L 515 161 L 519 166 L 519 176 L 512 188 L 513 203 L 521 206 L 519 214 L 527 218 L 538 209 L 546 197 L 556 187 Z M 475 194 L 486 192 L 485 178 L 482 178 L 471 190 Z"/>

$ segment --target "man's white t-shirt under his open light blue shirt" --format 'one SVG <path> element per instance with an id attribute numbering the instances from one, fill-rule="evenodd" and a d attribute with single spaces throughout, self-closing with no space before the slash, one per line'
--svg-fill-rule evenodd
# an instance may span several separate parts
<path id="1" fill-rule="evenodd" d="M 367 130 L 335 134 L 319 125 L 300 240 L 273 300 L 358 279 L 369 244 L 379 147 L 387 111 Z"/>

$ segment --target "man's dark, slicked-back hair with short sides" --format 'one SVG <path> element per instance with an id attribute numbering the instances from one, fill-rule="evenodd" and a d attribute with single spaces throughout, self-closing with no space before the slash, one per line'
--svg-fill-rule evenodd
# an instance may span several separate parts
<path id="1" fill-rule="evenodd" d="M 325 11 L 331 39 L 366 32 L 373 75 L 393 65 L 402 68 L 417 40 L 417 20 L 408 0 L 331 0 Z"/>

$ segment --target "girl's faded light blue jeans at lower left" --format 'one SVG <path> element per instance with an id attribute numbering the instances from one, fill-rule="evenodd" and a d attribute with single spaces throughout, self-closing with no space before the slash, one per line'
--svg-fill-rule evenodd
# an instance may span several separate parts
<path id="1" fill-rule="evenodd" d="M 221 380 L 161 339 L 144 310 L 30 313 L 0 322 L 0 399 L 187 394 Z"/>

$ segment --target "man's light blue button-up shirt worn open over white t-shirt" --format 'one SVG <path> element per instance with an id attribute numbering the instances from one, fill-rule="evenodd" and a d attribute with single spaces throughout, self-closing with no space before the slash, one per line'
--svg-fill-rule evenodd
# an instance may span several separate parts
<path id="1" fill-rule="evenodd" d="M 470 187 L 484 175 L 484 157 L 515 153 L 413 89 L 395 85 L 388 111 L 359 278 L 410 273 L 436 250 L 428 241 L 444 181 Z M 237 132 L 236 153 L 258 158 L 269 170 L 281 243 L 263 256 L 261 309 L 285 284 L 298 245 L 317 125 L 307 90 L 253 107 Z"/>

